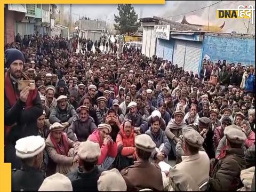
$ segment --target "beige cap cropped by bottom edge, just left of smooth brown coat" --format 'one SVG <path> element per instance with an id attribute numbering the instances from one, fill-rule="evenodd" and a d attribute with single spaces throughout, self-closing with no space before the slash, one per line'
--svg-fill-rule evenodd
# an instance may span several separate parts
<path id="1" fill-rule="evenodd" d="M 117 169 L 103 171 L 98 180 L 99 191 L 126 191 L 126 183 Z"/>

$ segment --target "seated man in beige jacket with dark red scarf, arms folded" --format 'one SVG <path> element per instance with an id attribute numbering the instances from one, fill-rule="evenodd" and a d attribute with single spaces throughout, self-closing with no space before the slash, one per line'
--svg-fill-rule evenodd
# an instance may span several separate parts
<path id="1" fill-rule="evenodd" d="M 64 128 L 58 122 L 50 126 L 50 134 L 45 141 L 45 148 L 49 157 L 56 164 L 55 172 L 67 174 L 78 166 L 79 142 L 69 139 L 67 133 L 63 132 Z"/>

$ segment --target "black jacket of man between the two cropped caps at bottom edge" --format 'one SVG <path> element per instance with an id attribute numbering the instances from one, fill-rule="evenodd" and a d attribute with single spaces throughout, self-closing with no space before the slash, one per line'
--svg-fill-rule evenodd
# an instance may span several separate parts
<path id="1" fill-rule="evenodd" d="M 81 167 L 76 171 L 69 172 L 67 177 L 70 179 L 73 191 L 98 191 L 98 179 L 105 171 L 95 166 L 91 172 L 83 173 Z"/>

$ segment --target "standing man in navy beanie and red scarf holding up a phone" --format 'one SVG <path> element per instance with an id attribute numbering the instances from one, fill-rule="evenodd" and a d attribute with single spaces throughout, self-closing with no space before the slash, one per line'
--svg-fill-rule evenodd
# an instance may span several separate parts
<path id="1" fill-rule="evenodd" d="M 12 168 L 20 169 L 14 143 L 19 138 L 38 134 L 36 119 L 43 113 L 43 108 L 36 88 L 30 90 L 27 86 L 18 90 L 18 81 L 29 79 L 22 73 L 23 54 L 17 49 L 8 49 L 5 58 L 9 71 L 4 79 L 4 159 L 6 163 L 12 163 Z"/>

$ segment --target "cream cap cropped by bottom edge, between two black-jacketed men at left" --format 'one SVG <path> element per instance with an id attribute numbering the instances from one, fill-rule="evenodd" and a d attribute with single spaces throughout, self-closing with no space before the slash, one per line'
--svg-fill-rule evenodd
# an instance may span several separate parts
<path id="1" fill-rule="evenodd" d="M 38 191 L 73 191 L 73 187 L 67 176 L 55 173 L 44 179 Z"/>

